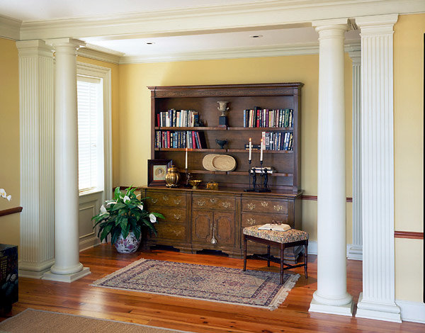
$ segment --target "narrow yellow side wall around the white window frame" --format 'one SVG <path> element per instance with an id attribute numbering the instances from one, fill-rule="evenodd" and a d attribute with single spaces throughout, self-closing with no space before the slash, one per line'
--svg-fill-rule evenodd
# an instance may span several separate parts
<path id="1" fill-rule="evenodd" d="M 96 64 L 97 66 L 111 68 L 111 108 L 112 108 L 112 186 L 120 186 L 120 112 L 119 112 L 119 78 L 118 64 L 77 57 L 77 62 Z"/>

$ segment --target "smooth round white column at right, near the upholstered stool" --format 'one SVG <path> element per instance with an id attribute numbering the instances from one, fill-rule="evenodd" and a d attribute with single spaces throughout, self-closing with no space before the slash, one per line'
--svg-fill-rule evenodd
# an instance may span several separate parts
<path id="1" fill-rule="evenodd" d="M 319 33 L 317 290 L 310 312 L 352 315 L 346 291 L 344 33 L 347 19 L 313 22 Z"/>

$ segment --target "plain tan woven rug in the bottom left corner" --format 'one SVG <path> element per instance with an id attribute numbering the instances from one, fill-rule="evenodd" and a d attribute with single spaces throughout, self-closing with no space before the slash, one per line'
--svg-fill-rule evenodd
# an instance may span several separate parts
<path id="1" fill-rule="evenodd" d="M 98 319 L 78 315 L 67 315 L 60 312 L 26 309 L 0 322 L 0 332 L 61 332 L 61 333 L 93 333 L 93 332 L 125 332 L 125 333 L 180 333 L 174 329 L 162 329 L 130 322 Z"/>

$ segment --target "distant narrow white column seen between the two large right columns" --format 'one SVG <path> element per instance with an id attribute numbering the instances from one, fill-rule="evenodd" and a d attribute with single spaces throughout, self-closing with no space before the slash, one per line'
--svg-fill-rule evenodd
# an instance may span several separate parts
<path id="1" fill-rule="evenodd" d="M 353 244 L 348 259 L 363 258 L 361 221 L 361 47 L 348 51 L 353 61 Z"/>

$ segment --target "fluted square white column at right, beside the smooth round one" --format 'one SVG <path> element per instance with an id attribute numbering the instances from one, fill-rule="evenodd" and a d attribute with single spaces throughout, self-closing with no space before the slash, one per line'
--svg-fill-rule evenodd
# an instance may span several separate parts
<path id="1" fill-rule="evenodd" d="M 363 293 L 356 317 L 401 322 L 395 304 L 392 34 L 397 14 L 361 28 Z"/>

